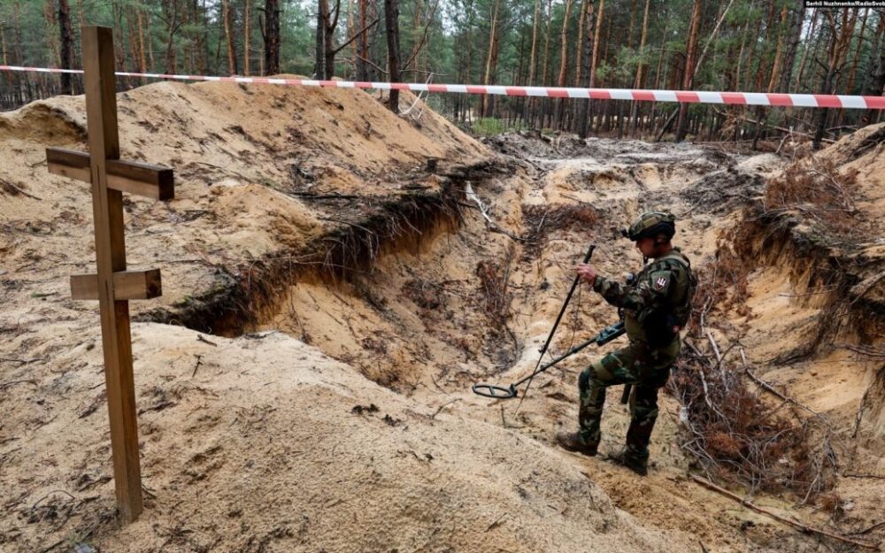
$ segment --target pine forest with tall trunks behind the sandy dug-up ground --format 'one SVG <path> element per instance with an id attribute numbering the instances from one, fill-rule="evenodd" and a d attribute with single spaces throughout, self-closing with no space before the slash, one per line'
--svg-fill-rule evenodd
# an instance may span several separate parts
<path id="1" fill-rule="evenodd" d="M 113 27 L 119 71 L 881 96 L 885 8 L 801 0 L 0 0 L 2 65 L 80 68 L 81 24 Z M 147 80 L 119 79 L 119 89 Z M 81 91 L 0 71 L 0 109 Z M 399 106 L 396 94 L 391 104 Z M 567 130 L 815 145 L 881 111 L 435 94 L 474 132 Z M 669 134 L 667 134 L 669 136 Z"/>

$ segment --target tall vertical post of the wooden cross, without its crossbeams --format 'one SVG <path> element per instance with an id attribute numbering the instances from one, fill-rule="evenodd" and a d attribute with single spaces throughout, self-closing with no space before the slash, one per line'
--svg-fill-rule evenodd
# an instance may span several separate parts
<path id="1" fill-rule="evenodd" d="M 108 188 L 106 171 L 108 160 L 119 159 L 112 29 L 83 27 L 82 42 L 113 480 L 120 516 L 130 522 L 142 512 L 142 472 L 135 419 L 129 304 L 115 300 L 113 293 L 113 273 L 126 271 L 126 247 L 123 194 Z"/>

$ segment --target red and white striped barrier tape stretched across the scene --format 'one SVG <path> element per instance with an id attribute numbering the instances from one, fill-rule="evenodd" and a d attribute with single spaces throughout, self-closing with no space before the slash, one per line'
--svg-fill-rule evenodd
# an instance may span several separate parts
<path id="1" fill-rule="evenodd" d="M 83 73 L 79 69 L 50 69 L 0 65 L 0 71 L 30 73 Z M 592 98 L 595 100 L 638 100 L 644 102 L 684 102 L 690 104 L 740 104 L 846 110 L 885 110 L 885 96 L 844 96 L 833 94 L 766 94 L 761 92 L 708 92 L 701 90 L 630 90 L 627 88 L 499 87 L 462 84 L 422 84 L 411 82 L 313 81 L 273 77 L 206 77 L 164 73 L 116 73 L 120 77 L 146 77 L 175 81 L 219 81 L 276 84 L 301 87 L 382 88 L 412 92 L 453 92 L 499 96 L 539 96 L 544 98 Z"/>

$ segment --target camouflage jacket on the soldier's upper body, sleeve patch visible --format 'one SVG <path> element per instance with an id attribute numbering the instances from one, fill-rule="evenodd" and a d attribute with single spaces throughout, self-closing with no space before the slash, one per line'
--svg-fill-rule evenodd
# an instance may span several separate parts
<path id="1" fill-rule="evenodd" d="M 689 258 L 673 248 L 645 265 L 633 284 L 596 277 L 593 289 L 605 301 L 624 310 L 624 326 L 631 342 L 664 348 L 679 334 L 673 326 L 685 326 L 691 314 L 696 278 Z"/>

